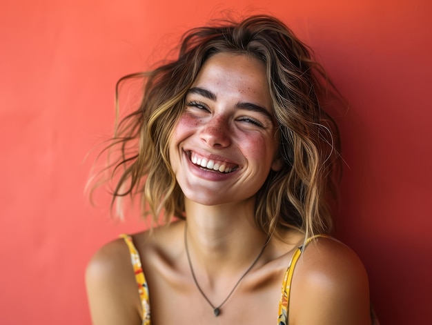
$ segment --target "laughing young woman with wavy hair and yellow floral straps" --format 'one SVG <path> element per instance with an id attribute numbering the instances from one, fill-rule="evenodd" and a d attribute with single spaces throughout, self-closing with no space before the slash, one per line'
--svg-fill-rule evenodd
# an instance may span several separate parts
<path id="1" fill-rule="evenodd" d="M 371 324 L 362 262 L 325 235 L 338 134 L 308 48 L 273 17 L 222 21 L 145 76 L 114 199 L 166 225 L 92 258 L 93 323 Z"/>

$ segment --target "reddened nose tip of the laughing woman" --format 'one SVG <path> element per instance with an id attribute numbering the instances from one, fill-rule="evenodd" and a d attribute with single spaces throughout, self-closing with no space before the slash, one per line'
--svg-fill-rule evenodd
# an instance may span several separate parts
<path id="1" fill-rule="evenodd" d="M 206 124 L 202 127 L 199 132 L 199 137 L 208 146 L 211 147 L 227 147 L 231 143 L 229 122 L 226 118 L 212 117 Z"/>

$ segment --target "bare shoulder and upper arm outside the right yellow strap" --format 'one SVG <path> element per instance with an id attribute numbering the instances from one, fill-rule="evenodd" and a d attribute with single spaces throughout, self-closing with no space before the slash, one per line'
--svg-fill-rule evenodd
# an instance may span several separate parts
<path id="1" fill-rule="evenodd" d="M 295 266 L 290 324 L 371 324 L 369 280 L 351 248 L 320 237 Z"/>

